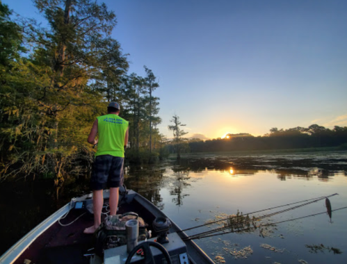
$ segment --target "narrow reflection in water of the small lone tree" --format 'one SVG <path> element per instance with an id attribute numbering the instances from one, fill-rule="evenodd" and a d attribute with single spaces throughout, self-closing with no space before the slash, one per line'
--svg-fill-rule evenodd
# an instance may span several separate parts
<path id="1" fill-rule="evenodd" d="M 172 188 L 170 190 L 170 195 L 176 196 L 172 198 L 172 202 L 177 206 L 183 205 L 183 198 L 189 196 L 183 192 L 186 186 L 190 186 L 191 183 L 188 183 L 188 179 L 191 179 L 189 176 L 188 168 L 173 167 L 172 171 L 175 172 L 172 176 L 174 177 L 174 182 L 172 183 Z"/>

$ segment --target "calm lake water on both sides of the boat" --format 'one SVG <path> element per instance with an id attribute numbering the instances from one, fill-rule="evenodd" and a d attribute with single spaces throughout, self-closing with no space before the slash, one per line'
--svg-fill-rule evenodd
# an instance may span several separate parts
<path id="1" fill-rule="evenodd" d="M 287 204 L 290 201 L 297 201 L 299 198 L 309 199 L 328 195 L 332 192 L 332 188 L 334 188 L 333 192 L 340 193 L 339 198 L 332 201 L 333 207 L 346 206 L 345 201 L 347 198 L 344 195 L 347 186 L 346 165 L 341 163 L 341 159 L 337 166 L 328 162 L 326 158 L 324 160 L 325 165 L 318 164 L 318 161 L 314 157 L 309 160 L 302 159 L 301 161 L 298 158 L 286 157 L 280 161 L 278 156 L 274 160 L 266 155 L 262 158 L 257 158 L 257 156 L 252 156 L 252 158 L 202 158 L 181 160 L 181 163 L 174 163 L 173 161 L 171 163 L 169 161 L 148 167 L 126 167 L 125 184 L 128 189 L 135 190 L 152 201 L 154 205 L 172 217 L 172 220 L 177 222 L 182 228 L 191 227 L 196 225 L 197 222 L 203 223 L 219 213 L 230 215 L 236 213 L 237 209 L 243 212 L 257 211 L 261 208 L 269 208 L 279 204 Z M 293 181 L 296 179 L 305 181 Z M 321 184 L 322 182 L 324 184 Z M 0 186 L 0 201 L 2 201 L 0 202 L 2 213 L 0 214 L 0 220 L 10 230 L 8 233 L 3 229 L 0 233 L 1 237 L 5 237 L 12 244 L 15 242 L 13 240 L 21 238 L 24 233 L 30 231 L 33 226 L 47 217 L 47 215 L 54 213 L 57 208 L 66 204 L 72 197 L 81 195 L 81 192 L 90 192 L 88 179 L 80 179 L 76 182 L 71 181 L 69 184 L 66 181 L 65 183 L 60 190 L 58 201 L 56 201 L 54 185 L 48 182 L 47 186 L 42 186 L 42 188 L 38 187 L 38 183 L 35 183 L 37 188 L 31 188 L 29 183 L 23 184 L 21 188 L 19 188 L 18 183 L 16 183 L 17 188 L 6 185 Z M 7 201 L 8 197 L 15 198 L 11 199 L 13 201 Z M 28 197 L 32 197 L 32 199 Z M 319 204 L 316 207 L 312 206 L 312 212 L 306 212 L 305 208 L 305 211 L 302 210 L 299 213 L 302 213 L 302 215 L 316 213 L 321 211 L 322 208 L 323 204 Z M 308 209 L 311 210 L 311 208 Z M 296 251 L 298 250 L 296 247 L 298 241 L 301 242 L 297 236 L 308 234 L 307 244 L 318 245 L 318 242 L 322 242 L 324 245 L 329 245 L 329 248 L 339 247 L 342 245 L 341 240 L 347 236 L 345 223 L 341 224 L 340 221 L 342 213 L 344 212 L 340 211 L 336 215 L 334 214 L 334 222 L 328 225 L 327 215 L 324 215 L 321 220 L 317 217 L 314 220 L 296 222 L 291 229 L 285 229 L 278 225 L 279 229 L 282 228 L 281 231 L 277 232 L 281 234 L 278 238 L 280 241 L 285 239 L 283 243 L 286 243 L 286 245 L 280 245 L 281 242 L 276 240 L 278 242 L 277 246 L 279 248 L 288 246 L 291 251 Z M 11 217 L 8 217 L 8 215 Z M 287 216 L 285 216 L 286 219 Z M 297 217 L 300 215 L 289 216 Z M 22 224 L 15 226 L 13 219 L 16 219 L 16 223 L 20 222 Z M 319 225 L 320 223 L 321 225 Z M 16 228 L 20 230 L 15 231 Z M 319 232 L 317 232 L 318 228 Z M 295 234 L 293 235 L 294 232 Z M 275 234 L 276 236 L 277 233 Z M 262 231 L 262 234 L 264 235 L 264 231 Z M 334 234 L 337 235 L 335 236 Z M 257 233 L 248 233 L 246 236 L 243 236 L 242 240 L 240 239 L 241 235 L 232 234 L 230 236 L 232 237 L 223 237 L 224 244 L 222 243 L 222 245 L 220 245 L 221 242 L 218 238 L 213 240 L 215 241 L 214 247 L 218 245 L 220 251 L 222 251 L 223 245 L 226 245 L 225 241 L 230 240 L 232 243 L 229 249 L 234 248 L 234 251 L 236 249 L 241 250 L 249 245 L 252 245 L 252 248 L 255 249 L 259 245 L 264 244 L 264 241 L 259 239 L 270 239 L 270 236 L 263 238 Z M 200 242 L 200 240 L 198 241 Z M 207 244 L 212 244 L 208 238 L 206 241 Z M 237 247 L 236 242 L 239 243 Z M 268 243 L 272 245 L 272 241 Z M 303 242 L 301 242 L 300 247 L 305 247 Z M 6 249 L 3 248 L 3 251 Z M 203 247 L 203 249 L 208 254 L 216 251 L 214 248 L 209 250 L 208 247 Z M 346 251 L 346 247 L 341 247 L 341 251 Z M 255 258 L 262 258 L 264 263 L 269 263 L 259 249 L 255 250 L 253 254 L 252 260 L 243 260 L 245 261 L 244 263 L 255 263 Z M 329 255 L 333 256 L 333 254 Z M 346 256 L 346 254 L 337 254 L 334 257 L 339 257 L 339 255 L 342 255 L 342 257 Z M 228 262 L 232 254 L 224 256 L 225 261 Z M 273 261 L 278 260 L 281 263 L 286 263 L 285 258 L 287 257 L 289 257 L 287 263 L 294 263 L 291 261 L 297 262 L 297 256 L 289 256 L 288 254 L 283 256 L 283 259 L 278 258 L 276 260 L 273 259 Z M 335 263 L 346 263 L 346 258 L 344 260 L 345 262 L 337 261 Z M 324 263 L 323 261 L 320 261 L 318 258 L 312 258 L 312 261 L 309 261 L 309 263 Z"/>

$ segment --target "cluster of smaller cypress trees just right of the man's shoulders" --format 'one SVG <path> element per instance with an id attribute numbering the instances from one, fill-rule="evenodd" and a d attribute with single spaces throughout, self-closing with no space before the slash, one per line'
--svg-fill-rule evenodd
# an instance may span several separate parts
<path id="1" fill-rule="evenodd" d="M 145 67 L 147 76 L 136 74 L 123 76 L 120 83 L 118 97 L 122 98 L 122 115 L 129 121 L 129 148 L 134 163 L 152 163 L 156 154 L 148 155 L 149 160 L 144 160 L 143 150 L 158 151 L 163 135 L 156 128 L 161 123 L 159 113 L 159 98 L 153 97 L 152 92 L 159 87 L 155 83 L 156 77 L 150 69 Z M 142 161 L 141 161 L 142 160 Z"/>

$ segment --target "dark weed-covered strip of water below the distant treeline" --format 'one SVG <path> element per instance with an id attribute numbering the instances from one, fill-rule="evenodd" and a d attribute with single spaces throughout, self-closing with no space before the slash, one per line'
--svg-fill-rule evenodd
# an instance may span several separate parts
<path id="1" fill-rule="evenodd" d="M 251 155 L 229 155 L 209 157 L 197 156 L 194 158 L 181 159 L 181 168 L 188 168 L 191 172 L 202 172 L 204 170 L 228 171 L 236 174 L 235 170 L 275 170 L 282 172 L 290 171 L 289 177 L 299 174 L 306 179 L 317 176 L 322 181 L 329 180 L 336 172 L 347 171 L 347 152 L 329 154 L 251 154 Z M 284 179 L 282 175 L 282 179 Z"/>

